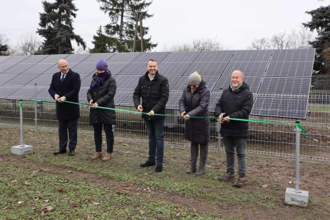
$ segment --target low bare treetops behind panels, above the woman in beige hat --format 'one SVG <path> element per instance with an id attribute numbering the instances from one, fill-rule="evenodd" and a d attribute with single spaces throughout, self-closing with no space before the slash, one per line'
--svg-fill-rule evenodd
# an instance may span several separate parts
<path id="1" fill-rule="evenodd" d="M 223 50 L 221 43 L 217 38 L 193 39 L 192 43 L 183 43 L 168 47 L 165 45 L 165 52 L 183 52 L 183 51 L 201 51 L 201 50 Z"/>

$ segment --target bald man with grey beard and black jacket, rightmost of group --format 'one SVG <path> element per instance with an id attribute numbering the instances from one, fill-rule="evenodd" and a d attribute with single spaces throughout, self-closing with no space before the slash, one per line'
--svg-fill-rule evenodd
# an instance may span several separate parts
<path id="1" fill-rule="evenodd" d="M 214 115 L 221 123 L 220 133 L 225 144 L 227 173 L 220 181 L 234 180 L 235 149 L 238 159 L 239 179 L 234 186 L 242 187 L 246 175 L 246 140 L 248 138 L 248 122 L 230 120 L 230 118 L 248 119 L 252 111 L 253 95 L 248 84 L 244 82 L 243 72 L 232 72 L 231 83 L 225 89 L 215 107 Z"/>

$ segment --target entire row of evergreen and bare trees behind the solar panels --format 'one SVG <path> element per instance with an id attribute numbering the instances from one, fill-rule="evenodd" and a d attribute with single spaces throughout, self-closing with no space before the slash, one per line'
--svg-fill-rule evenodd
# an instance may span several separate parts
<path id="1" fill-rule="evenodd" d="M 94 48 L 87 48 L 86 42 L 74 33 L 73 19 L 78 9 L 74 0 L 56 0 L 54 3 L 42 1 L 43 13 L 36 33 L 27 32 L 17 39 L 17 45 L 10 47 L 5 34 L 0 33 L 0 56 L 10 54 L 72 54 L 72 41 L 79 46 L 79 52 L 150 52 L 157 47 L 148 36 L 149 28 L 143 21 L 153 17 L 148 14 L 146 0 L 96 0 L 100 10 L 107 14 L 110 23 L 100 26 L 93 36 Z M 296 49 L 316 48 L 314 70 L 326 74 L 330 68 L 330 5 L 307 11 L 311 21 L 303 23 L 300 30 L 281 32 L 270 37 L 254 39 L 247 49 Z M 314 38 L 312 32 L 318 35 Z M 39 35 L 37 35 L 39 34 Z M 43 39 L 43 41 L 41 40 Z M 215 38 L 192 39 L 192 43 L 164 46 L 163 51 L 223 50 L 223 45 Z"/>

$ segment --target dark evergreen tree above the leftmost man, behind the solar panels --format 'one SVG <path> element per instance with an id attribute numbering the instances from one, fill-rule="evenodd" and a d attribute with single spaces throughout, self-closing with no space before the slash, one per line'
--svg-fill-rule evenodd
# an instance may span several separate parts
<path id="1" fill-rule="evenodd" d="M 82 45 L 84 50 L 86 43 L 74 34 L 72 17 L 76 17 L 76 5 L 74 0 L 56 0 L 54 3 L 43 1 L 45 13 L 40 14 L 40 29 L 36 32 L 45 38 L 42 45 L 43 54 L 72 54 L 71 41 Z"/>

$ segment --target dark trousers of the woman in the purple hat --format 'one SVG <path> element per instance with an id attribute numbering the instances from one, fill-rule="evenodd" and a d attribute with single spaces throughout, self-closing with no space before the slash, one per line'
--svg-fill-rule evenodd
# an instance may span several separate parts
<path id="1" fill-rule="evenodd" d="M 107 139 L 107 153 L 112 153 L 114 142 L 112 124 L 93 124 L 96 152 L 102 151 L 102 125 L 104 126 L 105 137 Z"/>

